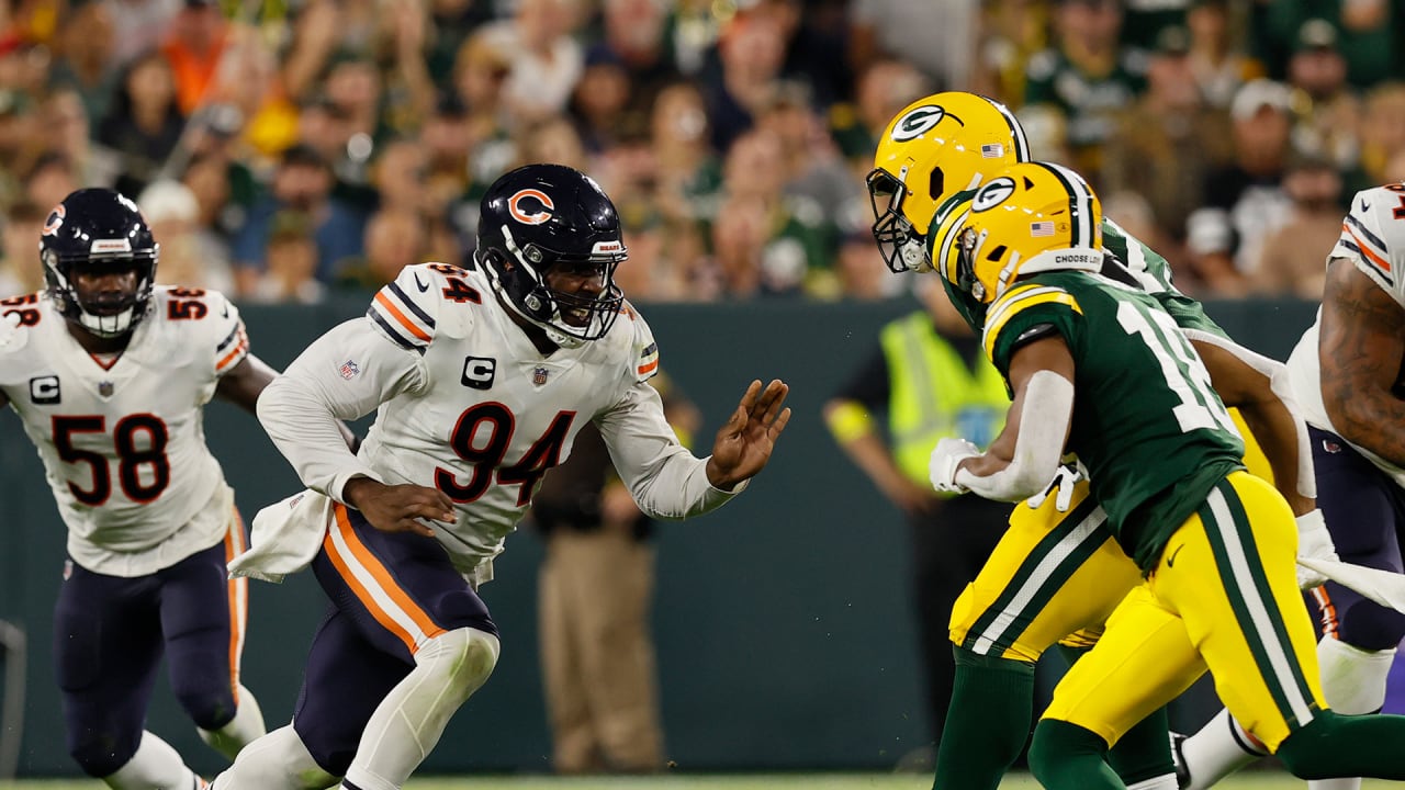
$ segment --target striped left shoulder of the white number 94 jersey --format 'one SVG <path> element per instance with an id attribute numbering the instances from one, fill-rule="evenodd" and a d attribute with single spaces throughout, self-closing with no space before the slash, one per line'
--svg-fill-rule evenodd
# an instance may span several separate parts
<path id="1" fill-rule="evenodd" d="M 444 302 L 482 302 L 482 294 L 465 283 L 466 273 L 444 263 L 406 266 L 395 281 L 377 291 L 367 319 L 392 343 L 424 353 L 440 332 Z"/>

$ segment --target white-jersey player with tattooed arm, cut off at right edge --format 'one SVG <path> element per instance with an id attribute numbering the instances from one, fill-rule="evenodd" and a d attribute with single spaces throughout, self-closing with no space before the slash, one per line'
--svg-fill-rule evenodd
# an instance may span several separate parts
<path id="1" fill-rule="evenodd" d="M 1346 562 L 1405 571 L 1405 184 L 1361 190 L 1328 254 L 1316 322 L 1288 357 L 1312 439 L 1318 506 Z M 1405 614 L 1336 582 L 1312 590 L 1321 611 L 1318 658 L 1332 710 L 1377 713 L 1405 638 Z M 1184 787 L 1210 787 L 1262 755 L 1221 713 L 1183 744 Z M 1360 779 L 1308 783 L 1354 790 Z"/>

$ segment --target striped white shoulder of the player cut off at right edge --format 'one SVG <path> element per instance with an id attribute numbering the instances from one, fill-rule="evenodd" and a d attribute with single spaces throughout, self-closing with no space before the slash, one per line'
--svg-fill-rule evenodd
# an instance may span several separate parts
<path id="1" fill-rule="evenodd" d="M 1347 257 L 1371 280 L 1405 304 L 1405 184 L 1361 190 L 1342 219 L 1332 257 Z"/>

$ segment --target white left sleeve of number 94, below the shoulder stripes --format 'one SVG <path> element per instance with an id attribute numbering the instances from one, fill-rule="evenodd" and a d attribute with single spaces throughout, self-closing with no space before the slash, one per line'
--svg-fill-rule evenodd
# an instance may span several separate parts
<path id="1" fill-rule="evenodd" d="M 263 391 L 259 422 L 303 485 L 344 503 L 348 479 L 381 478 L 346 446 L 337 420 L 360 419 L 422 387 L 420 358 L 367 318 L 348 320 L 308 346 Z"/>

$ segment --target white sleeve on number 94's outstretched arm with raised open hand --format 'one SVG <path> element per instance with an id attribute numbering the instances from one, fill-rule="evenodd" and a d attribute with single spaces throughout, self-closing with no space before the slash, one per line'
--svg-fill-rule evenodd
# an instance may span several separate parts
<path id="1" fill-rule="evenodd" d="M 610 410 L 596 417 L 610 447 L 620 479 L 639 509 L 656 519 L 687 519 L 715 510 L 746 488 L 712 486 L 707 458 L 690 453 L 663 416 L 663 402 L 653 387 L 638 382 Z"/>

